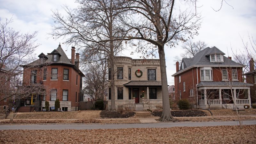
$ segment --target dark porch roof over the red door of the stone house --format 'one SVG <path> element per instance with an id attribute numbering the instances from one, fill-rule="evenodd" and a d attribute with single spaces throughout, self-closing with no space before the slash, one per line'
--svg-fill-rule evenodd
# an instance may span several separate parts
<path id="1" fill-rule="evenodd" d="M 130 81 L 129 83 L 123 84 L 126 87 L 132 86 L 156 86 L 161 87 L 162 83 L 158 81 Z"/>

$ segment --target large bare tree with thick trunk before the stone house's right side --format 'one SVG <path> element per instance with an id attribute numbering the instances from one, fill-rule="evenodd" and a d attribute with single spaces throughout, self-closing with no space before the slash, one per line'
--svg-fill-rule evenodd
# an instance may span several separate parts
<path id="1" fill-rule="evenodd" d="M 177 41 L 186 41 L 197 34 L 200 18 L 193 12 L 174 11 L 174 0 L 131 0 L 123 9 L 129 13 L 122 17 L 129 30 L 126 40 L 134 40 L 136 51 L 145 57 L 158 52 L 160 59 L 163 114 L 162 121 L 174 121 L 171 115 L 166 76 L 164 45 L 174 47 Z M 188 37 L 187 37 L 188 36 Z"/>

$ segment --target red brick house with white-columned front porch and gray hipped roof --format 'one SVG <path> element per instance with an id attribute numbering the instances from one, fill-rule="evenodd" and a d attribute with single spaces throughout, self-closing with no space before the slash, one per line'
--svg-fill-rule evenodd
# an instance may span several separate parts
<path id="1" fill-rule="evenodd" d="M 176 62 L 175 95 L 189 99 L 198 108 L 234 108 L 234 103 L 242 109 L 251 105 L 250 86 L 242 78 L 243 65 L 225 57 L 215 46 L 207 47 L 193 58 Z M 232 100 L 234 95 L 234 101 Z"/>

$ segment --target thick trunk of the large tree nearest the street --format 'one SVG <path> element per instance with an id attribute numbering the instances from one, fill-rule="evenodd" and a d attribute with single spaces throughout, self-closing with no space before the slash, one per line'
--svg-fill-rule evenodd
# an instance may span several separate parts
<path id="1" fill-rule="evenodd" d="M 168 84 L 166 75 L 166 64 L 164 46 L 158 46 L 158 53 L 160 59 L 160 70 L 161 70 L 161 81 L 162 81 L 162 99 L 163 99 L 163 114 L 160 117 L 162 121 L 174 121 L 170 110 L 169 95 L 168 95 Z"/>

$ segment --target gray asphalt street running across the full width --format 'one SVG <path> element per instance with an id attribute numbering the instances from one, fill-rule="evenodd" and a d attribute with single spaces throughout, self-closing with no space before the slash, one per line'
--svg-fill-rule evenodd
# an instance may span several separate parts
<path id="1" fill-rule="evenodd" d="M 243 125 L 254 125 L 256 120 L 242 121 Z M 222 122 L 176 122 L 176 123 L 148 123 L 148 124 L 31 124 L 31 125 L 0 125 L 0 130 L 91 130 L 91 129 L 123 129 L 123 128 L 169 128 L 239 125 L 238 121 Z"/>

